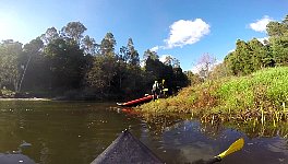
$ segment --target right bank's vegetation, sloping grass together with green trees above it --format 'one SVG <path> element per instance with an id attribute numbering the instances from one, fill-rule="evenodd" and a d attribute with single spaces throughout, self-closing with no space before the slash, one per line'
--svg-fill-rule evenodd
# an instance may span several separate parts
<path id="1" fill-rule="evenodd" d="M 201 84 L 141 106 L 143 112 L 190 113 L 205 121 L 288 120 L 288 15 L 267 25 L 269 39 L 237 40 Z M 259 120 L 259 121 L 257 121 Z"/>

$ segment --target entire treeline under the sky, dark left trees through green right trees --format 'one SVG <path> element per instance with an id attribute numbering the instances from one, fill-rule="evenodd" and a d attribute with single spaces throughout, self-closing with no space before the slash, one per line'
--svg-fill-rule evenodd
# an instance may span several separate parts
<path id="1" fill-rule="evenodd" d="M 178 59 L 168 56 L 159 61 L 157 52 L 147 49 L 143 61 L 132 38 L 116 50 L 112 33 L 100 43 L 88 35 L 80 22 L 70 22 L 60 31 L 48 28 L 26 45 L 12 39 L 0 43 L 0 89 L 34 95 L 68 97 L 133 97 L 151 93 L 155 80 L 165 80 L 170 94 L 204 79 L 245 75 L 267 67 L 288 66 L 288 15 L 281 22 L 269 22 L 269 37 L 244 42 L 212 71 L 214 60 L 202 59 L 199 74 L 183 72 Z M 0 93 L 1 96 L 1 93 Z"/>

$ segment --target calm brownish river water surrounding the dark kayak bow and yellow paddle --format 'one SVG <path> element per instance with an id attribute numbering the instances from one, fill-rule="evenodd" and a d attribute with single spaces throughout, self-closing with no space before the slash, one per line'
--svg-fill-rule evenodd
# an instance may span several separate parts
<path id="1" fill-rule="evenodd" d="M 288 163 L 287 126 L 238 131 L 189 118 L 141 117 L 115 107 L 94 102 L 0 102 L 0 164 L 88 164 L 124 129 L 168 164 L 213 157 L 241 137 L 244 148 L 221 163 Z"/>

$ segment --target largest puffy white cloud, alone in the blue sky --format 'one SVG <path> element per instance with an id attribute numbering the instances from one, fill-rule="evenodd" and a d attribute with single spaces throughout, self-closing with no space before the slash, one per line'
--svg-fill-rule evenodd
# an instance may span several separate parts
<path id="1" fill-rule="evenodd" d="M 209 33 L 209 25 L 196 19 L 194 21 L 179 20 L 170 25 L 170 34 L 165 48 L 183 47 L 199 42 L 204 35 Z"/>

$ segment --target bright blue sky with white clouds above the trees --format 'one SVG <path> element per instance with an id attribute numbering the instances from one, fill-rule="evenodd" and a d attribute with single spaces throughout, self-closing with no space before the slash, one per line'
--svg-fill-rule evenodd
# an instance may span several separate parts
<path id="1" fill-rule="evenodd" d="M 223 61 L 237 39 L 266 38 L 266 24 L 287 14 L 287 0 L 0 0 L 0 40 L 26 44 L 81 22 L 96 43 L 110 32 L 119 51 L 131 37 L 141 58 L 152 49 L 187 71 L 204 54 Z"/>

